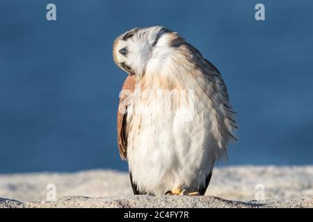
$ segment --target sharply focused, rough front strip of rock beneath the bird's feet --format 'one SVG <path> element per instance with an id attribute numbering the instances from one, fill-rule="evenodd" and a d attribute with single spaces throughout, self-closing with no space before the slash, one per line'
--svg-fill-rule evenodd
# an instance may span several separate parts
<path id="1" fill-rule="evenodd" d="M 0 199 L 0 207 L 199 207 L 199 208 L 262 208 L 262 207 L 313 207 L 313 200 L 263 200 L 235 201 L 214 196 L 125 196 L 88 198 L 85 196 L 65 196 L 55 201 L 26 201 Z"/>

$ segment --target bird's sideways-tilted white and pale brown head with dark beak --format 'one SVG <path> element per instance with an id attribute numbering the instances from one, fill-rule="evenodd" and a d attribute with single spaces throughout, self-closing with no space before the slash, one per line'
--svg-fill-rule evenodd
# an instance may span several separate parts
<path id="1" fill-rule="evenodd" d="M 133 28 L 115 39 L 113 60 L 129 75 L 142 76 L 151 58 L 164 56 L 173 35 L 177 33 L 162 26 Z"/>

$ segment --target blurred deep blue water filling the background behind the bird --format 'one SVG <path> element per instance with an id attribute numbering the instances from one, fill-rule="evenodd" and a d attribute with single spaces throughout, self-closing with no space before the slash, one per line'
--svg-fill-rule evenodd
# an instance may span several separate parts
<path id="1" fill-rule="evenodd" d="M 115 127 L 126 74 L 112 43 L 152 25 L 220 69 L 239 113 L 229 164 L 313 164 L 313 1 L 262 1 L 265 22 L 256 3 L 1 0 L 0 173 L 126 170 Z"/>

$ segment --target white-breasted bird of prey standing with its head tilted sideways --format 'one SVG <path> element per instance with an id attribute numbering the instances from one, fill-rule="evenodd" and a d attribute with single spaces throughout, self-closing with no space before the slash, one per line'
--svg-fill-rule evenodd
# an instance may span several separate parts
<path id="1" fill-rule="evenodd" d="M 177 32 L 133 28 L 113 60 L 128 76 L 118 105 L 118 148 L 135 195 L 205 194 L 238 128 L 220 71 Z"/>

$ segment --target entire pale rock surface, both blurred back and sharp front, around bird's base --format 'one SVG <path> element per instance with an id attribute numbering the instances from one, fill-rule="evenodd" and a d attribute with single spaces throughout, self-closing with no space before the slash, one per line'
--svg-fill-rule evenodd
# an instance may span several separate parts
<path id="1" fill-rule="evenodd" d="M 313 207 L 313 166 L 217 167 L 206 196 L 134 196 L 128 173 L 112 170 L 3 174 L 0 197 L 0 207 Z"/>

